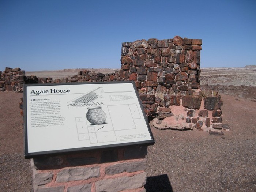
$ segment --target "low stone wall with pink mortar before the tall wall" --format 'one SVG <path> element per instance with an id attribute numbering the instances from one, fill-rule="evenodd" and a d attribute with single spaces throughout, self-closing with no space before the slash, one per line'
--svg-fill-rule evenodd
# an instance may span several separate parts
<path id="1" fill-rule="evenodd" d="M 216 91 L 197 90 L 194 95 L 140 95 L 144 112 L 158 129 L 222 129 L 222 101 Z"/>

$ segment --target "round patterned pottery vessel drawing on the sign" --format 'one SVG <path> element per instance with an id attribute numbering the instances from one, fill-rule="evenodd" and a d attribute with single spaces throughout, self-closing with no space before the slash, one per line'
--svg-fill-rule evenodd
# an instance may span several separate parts
<path id="1" fill-rule="evenodd" d="M 106 121 L 107 115 L 102 110 L 102 107 L 89 107 L 86 113 L 87 120 L 93 125 L 100 125 Z"/>

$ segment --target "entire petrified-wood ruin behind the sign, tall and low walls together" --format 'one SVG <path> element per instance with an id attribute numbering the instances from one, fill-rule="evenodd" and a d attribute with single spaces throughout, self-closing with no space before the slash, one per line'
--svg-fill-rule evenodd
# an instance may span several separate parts
<path id="1" fill-rule="evenodd" d="M 23 83 L 132 80 L 146 116 L 159 129 L 203 129 L 222 134 L 222 101 L 214 90 L 200 90 L 201 39 L 179 36 L 122 43 L 121 69 L 111 74 L 80 71 L 55 79 L 25 76 L 20 68 L 1 73 L 0 91 L 23 91 Z M 220 131 L 218 131 L 220 130 Z"/>

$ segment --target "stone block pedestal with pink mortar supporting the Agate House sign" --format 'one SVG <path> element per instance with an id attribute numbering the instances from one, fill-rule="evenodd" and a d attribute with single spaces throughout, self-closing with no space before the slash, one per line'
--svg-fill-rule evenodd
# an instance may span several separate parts
<path id="1" fill-rule="evenodd" d="M 147 147 L 31 160 L 35 192 L 146 192 Z"/>

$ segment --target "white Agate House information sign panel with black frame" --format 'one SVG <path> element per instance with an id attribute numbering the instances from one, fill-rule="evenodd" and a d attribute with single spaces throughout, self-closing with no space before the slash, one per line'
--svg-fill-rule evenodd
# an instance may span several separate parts
<path id="1" fill-rule="evenodd" d="M 25 158 L 154 144 L 134 82 L 25 84 Z"/>

